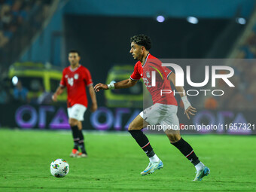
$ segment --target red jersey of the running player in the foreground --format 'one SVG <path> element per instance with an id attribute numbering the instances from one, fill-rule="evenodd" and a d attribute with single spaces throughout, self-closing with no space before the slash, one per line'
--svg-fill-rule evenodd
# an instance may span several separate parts
<path id="1" fill-rule="evenodd" d="M 155 72 L 155 86 L 152 86 L 152 72 Z M 161 90 L 172 90 L 171 85 L 168 81 L 169 75 L 172 71 L 162 66 L 162 62 L 156 57 L 148 54 L 144 66 L 142 62 L 137 62 L 134 66 L 133 74 L 130 78 L 133 81 L 139 81 L 143 79 L 145 86 L 149 93 L 151 93 L 153 104 L 161 103 L 166 105 L 177 105 L 176 99 L 172 93 L 163 93 L 161 96 Z"/>

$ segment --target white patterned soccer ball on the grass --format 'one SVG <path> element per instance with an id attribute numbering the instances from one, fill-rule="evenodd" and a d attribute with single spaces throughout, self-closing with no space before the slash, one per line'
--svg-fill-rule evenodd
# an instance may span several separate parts
<path id="1" fill-rule="evenodd" d="M 50 173 L 54 177 L 62 178 L 69 173 L 69 163 L 63 159 L 56 159 L 50 163 Z"/>

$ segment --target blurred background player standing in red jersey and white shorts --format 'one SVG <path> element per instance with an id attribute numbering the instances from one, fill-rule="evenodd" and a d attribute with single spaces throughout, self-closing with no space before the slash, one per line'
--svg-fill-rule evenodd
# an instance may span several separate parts
<path id="1" fill-rule="evenodd" d="M 92 100 L 90 110 L 92 112 L 97 110 L 93 80 L 89 70 L 79 63 L 80 59 L 81 57 L 77 50 L 69 51 L 70 66 L 63 70 L 62 80 L 56 92 L 53 94 L 53 101 L 56 102 L 57 96 L 63 92 L 65 87 L 67 88 L 69 124 L 72 128 L 72 136 L 75 144 L 70 157 L 87 157 L 81 123 L 84 120 L 84 112 L 87 110 L 88 105 L 86 87 L 89 89 Z M 81 148 L 81 152 L 78 151 L 78 147 Z"/>

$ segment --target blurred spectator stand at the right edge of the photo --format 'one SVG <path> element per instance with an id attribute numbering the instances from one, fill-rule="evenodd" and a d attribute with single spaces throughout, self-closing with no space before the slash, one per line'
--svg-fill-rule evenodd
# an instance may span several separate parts
<path id="1" fill-rule="evenodd" d="M 248 26 L 238 38 L 233 50 L 227 56 L 235 74 L 232 78 L 236 89 L 230 89 L 224 81 L 219 81 L 218 89 L 224 90 L 224 96 L 209 97 L 204 105 L 208 109 L 254 109 L 256 105 L 256 11 L 252 14 Z"/>

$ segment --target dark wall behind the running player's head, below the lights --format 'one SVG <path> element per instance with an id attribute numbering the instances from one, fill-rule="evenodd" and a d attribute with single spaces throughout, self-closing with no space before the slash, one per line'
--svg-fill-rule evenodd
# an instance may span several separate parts
<path id="1" fill-rule="evenodd" d="M 96 75 L 97 81 L 105 81 L 105 72 L 113 64 L 135 63 L 129 53 L 133 35 L 149 35 L 151 54 L 158 58 L 204 58 L 229 23 L 230 20 L 200 20 L 193 25 L 184 19 L 158 23 L 142 17 L 66 15 L 66 53 L 80 50 L 84 66 Z M 239 34 L 242 26 L 237 26 L 235 33 Z"/>

